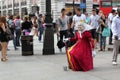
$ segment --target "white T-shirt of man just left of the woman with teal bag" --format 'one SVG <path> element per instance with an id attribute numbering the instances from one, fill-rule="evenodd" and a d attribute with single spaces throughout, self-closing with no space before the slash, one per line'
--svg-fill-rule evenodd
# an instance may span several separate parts
<path id="1" fill-rule="evenodd" d="M 95 15 L 95 16 L 94 16 L 94 15 L 91 15 L 91 16 L 90 16 L 90 22 L 91 22 L 90 25 L 91 25 L 92 27 L 94 27 L 95 29 L 98 28 L 98 26 L 99 26 L 99 25 L 98 25 L 98 20 L 99 20 L 99 18 L 100 18 L 100 17 L 99 17 L 98 15 Z"/>

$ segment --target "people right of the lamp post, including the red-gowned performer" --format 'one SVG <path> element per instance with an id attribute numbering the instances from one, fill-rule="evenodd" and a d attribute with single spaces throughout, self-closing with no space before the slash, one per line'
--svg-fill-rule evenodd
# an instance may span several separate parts
<path id="1" fill-rule="evenodd" d="M 70 14 L 70 13 L 69 13 Z M 113 61 L 117 64 L 117 55 L 119 53 L 120 38 L 120 9 L 112 10 L 106 17 L 104 12 L 96 9 L 92 14 L 81 13 L 80 8 L 75 9 L 75 15 L 66 15 L 66 10 L 61 10 L 61 16 L 57 19 L 57 34 L 59 41 L 66 41 L 66 53 L 68 57 L 69 68 L 74 71 L 89 71 L 93 69 L 93 51 L 99 44 L 99 51 L 105 52 L 106 38 L 109 37 L 109 45 L 113 45 Z M 69 36 L 73 35 L 74 36 Z M 66 38 L 66 39 L 63 39 Z M 58 42 L 59 42 L 58 41 Z M 74 43 L 69 45 L 68 43 Z M 112 43 L 113 42 L 113 43 Z M 59 45 L 58 45 L 59 47 Z M 60 52 L 62 47 L 59 48 Z"/>

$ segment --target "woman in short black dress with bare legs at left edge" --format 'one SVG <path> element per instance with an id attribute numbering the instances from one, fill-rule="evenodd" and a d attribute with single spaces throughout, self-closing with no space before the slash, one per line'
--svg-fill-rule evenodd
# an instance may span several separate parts
<path id="1" fill-rule="evenodd" d="M 0 17 L 0 42 L 1 42 L 1 46 L 2 46 L 2 58 L 1 61 L 7 61 L 7 47 L 8 47 L 8 40 L 6 38 L 6 17 L 5 16 L 1 16 Z"/>

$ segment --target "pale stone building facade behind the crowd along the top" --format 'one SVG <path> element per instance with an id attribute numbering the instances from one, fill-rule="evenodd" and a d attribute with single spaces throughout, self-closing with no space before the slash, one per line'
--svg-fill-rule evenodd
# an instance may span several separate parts
<path id="1" fill-rule="evenodd" d="M 80 5 L 83 0 L 74 0 L 75 6 Z M 46 0 L 0 0 L 0 14 L 1 15 L 17 15 L 21 17 L 36 12 L 45 14 Z M 86 9 L 91 10 L 92 0 L 86 2 Z M 60 16 L 62 8 L 66 8 L 69 12 L 73 10 L 73 0 L 51 0 L 51 13 L 53 21 Z M 90 12 L 90 11 L 89 11 Z"/>

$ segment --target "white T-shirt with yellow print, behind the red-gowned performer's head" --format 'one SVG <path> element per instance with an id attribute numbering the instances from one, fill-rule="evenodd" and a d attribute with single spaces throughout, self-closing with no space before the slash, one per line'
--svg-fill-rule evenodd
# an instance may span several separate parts
<path id="1" fill-rule="evenodd" d="M 86 17 L 84 14 L 81 14 L 81 16 L 74 15 L 73 21 L 75 22 L 74 30 L 78 30 L 78 23 L 79 22 L 85 22 Z"/>

